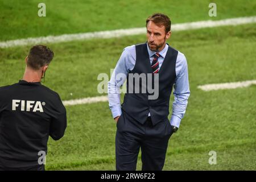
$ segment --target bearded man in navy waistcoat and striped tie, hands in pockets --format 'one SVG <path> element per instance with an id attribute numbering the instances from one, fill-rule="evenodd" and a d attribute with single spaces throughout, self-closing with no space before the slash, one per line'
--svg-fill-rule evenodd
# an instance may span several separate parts
<path id="1" fill-rule="evenodd" d="M 109 107 L 117 122 L 117 170 L 135 170 L 140 148 L 143 171 L 163 169 L 168 140 L 180 126 L 190 95 L 187 60 L 166 43 L 171 36 L 170 18 L 153 14 L 146 28 L 147 42 L 123 49 L 108 83 Z M 125 80 L 121 105 L 119 88 Z"/>

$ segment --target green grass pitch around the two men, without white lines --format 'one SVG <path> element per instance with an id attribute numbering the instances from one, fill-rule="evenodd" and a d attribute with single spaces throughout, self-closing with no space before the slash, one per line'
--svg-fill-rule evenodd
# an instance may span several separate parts
<path id="1" fill-rule="evenodd" d="M 39 18 L 39 1 L 0 1 L 0 41 L 143 27 L 154 12 L 168 14 L 173 23 L 253 16 L 256 7 L 253 1 L 214 1 L 217 17 L 210 18 L 210 1 L 203 0 L 44 2 L 47 16 Z M 123 48 L 143 42 L 146 34 L 47 44 L 55 58 L 43 84 L 62 100 L 101 96 L 98 74 L 110 75 Z M 187 57 L 191 97 L 164 170 L 255 170 L 256 85 L 210 92 L 197 86 L 256 79 L 256 24 L 174 31 L 168 43 Z M 0 48 L 0 86 L 22 78 L 29 49 Z M 67 106 L 67 116 L 64 138 L 49 139 L 46 169 L 114 170 L 116 126 L 108 102 Z M 217 152 L 216 165 L 208 163 L 209 151 Z"/>

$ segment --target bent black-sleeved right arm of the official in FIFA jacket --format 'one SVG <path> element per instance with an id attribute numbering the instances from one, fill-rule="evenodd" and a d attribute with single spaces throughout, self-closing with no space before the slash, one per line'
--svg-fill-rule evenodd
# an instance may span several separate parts
<path id="1" fill-rule="evenodd" d="M 64 105 L 59 99 L 59 106 L 56 108 L 56 114 L 52 117 L 49 135 L 53 140 L 59 140 L 64 136 L 67 127 L 67 113 Z"/>

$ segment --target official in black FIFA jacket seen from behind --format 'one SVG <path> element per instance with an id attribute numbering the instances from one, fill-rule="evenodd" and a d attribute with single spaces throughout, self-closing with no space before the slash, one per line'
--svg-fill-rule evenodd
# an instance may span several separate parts
<path id="1" fill-rule="evenodd" d="M 43 86 L 53 52 L 34 46 L 18 83 L 0 87 L 0 170 L 44 170 L 49 136 L 59 140 L 67 117 L 59 94 Z"/>

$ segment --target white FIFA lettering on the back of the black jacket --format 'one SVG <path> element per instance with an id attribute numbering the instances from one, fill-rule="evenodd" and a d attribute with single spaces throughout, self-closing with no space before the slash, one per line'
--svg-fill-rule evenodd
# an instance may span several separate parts
<path id="1" fill-rule="evenodd" d="M 32 111 L 32 112 L 36 112 L 36 111 L 40 111 L 41 113 L 44 112 L 43 110 L 43 106 L 46 105 L 45 102 L 40 102 L 40 101 L 24 101 L 24 100 L 13 100 L 13 109 L 12 110 L 16 110 L 17 107 L 21 110 L 21 111 Z"/>

